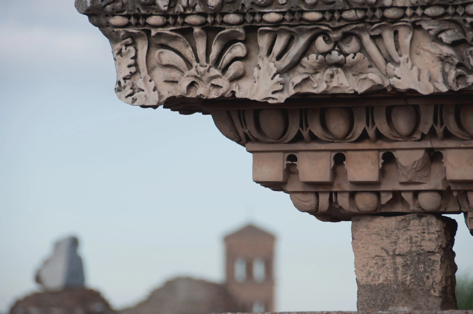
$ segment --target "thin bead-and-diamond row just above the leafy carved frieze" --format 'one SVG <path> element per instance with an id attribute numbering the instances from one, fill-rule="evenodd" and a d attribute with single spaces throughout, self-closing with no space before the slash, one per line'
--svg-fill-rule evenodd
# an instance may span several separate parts
<path id="1" fill-rule="evenodd" d="M 115 28 L 175 28 L 186 26 L 238 26 L 258 25 L 271 26 L 283 25 L 307 25 L 314 22 L 324 24 L 335 24 L 342 26 L 353 22 L 379 23 L 383 19 L 390 21 L 404 20 L 417 22 L 429 17 L 440 17 L 455 22 L 464 23 L 473 16 L 473 5 L 464 6 L 430 6 L 422 9 L 422 6 L 404 8 L 367 8 L 325 11 L 264 11 L 246 13 L 176 13 L 170 15 L 93 15 L 91 22 L 98 27 L 111 26 Z"/>

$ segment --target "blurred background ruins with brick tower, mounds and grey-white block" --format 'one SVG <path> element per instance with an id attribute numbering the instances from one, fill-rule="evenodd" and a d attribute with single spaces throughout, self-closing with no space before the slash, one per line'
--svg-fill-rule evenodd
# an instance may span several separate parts
<path id="1" fill-rule="evenodd" d="M 100 291 L 87 288 L 78 239 L 61 239 L 36 271 L 41 292 L 17 301 L 10 314 L 210 314 L 274 310 L 275 237 L 247 224 L 224 238 L 225 282 L 180 277 L 154 289 L 134 306 L 114 311 Z M 209 256 L 210 257 L 210 256 Z"/>

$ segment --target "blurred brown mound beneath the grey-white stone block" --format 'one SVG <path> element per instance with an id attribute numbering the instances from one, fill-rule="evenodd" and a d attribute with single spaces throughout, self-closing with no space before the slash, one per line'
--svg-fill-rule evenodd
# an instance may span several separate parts
<path id="1" fill-rule="evenodd" d="M 115 314 L 97 291 L 68 288 L 60 292 L 34 293 L 17 301 L 10 314 Z"/>

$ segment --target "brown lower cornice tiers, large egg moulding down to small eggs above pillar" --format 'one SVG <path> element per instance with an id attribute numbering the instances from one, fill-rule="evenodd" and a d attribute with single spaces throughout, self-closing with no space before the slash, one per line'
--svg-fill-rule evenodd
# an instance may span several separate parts
<path id="1" fill-rule="evenodd" d="M 320 220 L 460 213 L 473 230 L 473 106 L 378 105 L 211 111 L 253 154 L 253 180 Z"/>

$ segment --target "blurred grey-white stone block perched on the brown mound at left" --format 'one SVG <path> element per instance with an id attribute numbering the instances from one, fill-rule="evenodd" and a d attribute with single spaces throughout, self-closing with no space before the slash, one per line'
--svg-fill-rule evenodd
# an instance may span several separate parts
<path id="1" fill-rule="evenodd" d="M 77 254 L 79 241 L 68 237 L 54 244 L 54 251 L 36 272 L 36 282 L 46 291 L 61 291 L 84 286 L 82 259 Z"/>

